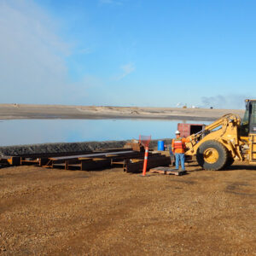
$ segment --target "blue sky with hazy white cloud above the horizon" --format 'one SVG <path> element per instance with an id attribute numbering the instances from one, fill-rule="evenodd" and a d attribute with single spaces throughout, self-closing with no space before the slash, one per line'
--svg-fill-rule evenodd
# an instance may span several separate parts
<path id="1" fill-rule="evenodd" d="M 236 0 L 0 0 L 0 101 L 243 108 L 256 98 L 255 11 Z"/>

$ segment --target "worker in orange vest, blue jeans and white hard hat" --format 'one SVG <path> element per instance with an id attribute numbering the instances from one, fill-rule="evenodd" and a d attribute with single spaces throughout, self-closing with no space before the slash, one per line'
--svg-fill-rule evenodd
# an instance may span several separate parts
<path id="1" fill-rule="evenodd" d="M 179 161 L 183 171 L 185 171 L 185 143 L 188 143 L 189 140 L 186 138 L 180 137 L 180 132 L 175 132 L 176 138 L 172 139 L 172 152 L 175 154 L 175 169 L 178 170 Z"/>

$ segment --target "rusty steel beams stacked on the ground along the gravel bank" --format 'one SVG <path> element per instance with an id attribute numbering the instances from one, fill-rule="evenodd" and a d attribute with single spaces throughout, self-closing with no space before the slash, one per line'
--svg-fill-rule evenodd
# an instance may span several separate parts
<path id="1" fill-rule="evenodd" d="M 62 168 L 65 170 L 92 171 L 119 166 L 125 172 L 141 172 L 143 170 L 143 150 L 131 148 L 115 148 L 104 151 L 84 152 L 83 154 L 34 154 L 20 156 L 3 156 L 0 164 L 11 166 L 43 166 Z M 168 166 L 170 157 L 160 153 L 149 152 L 148 169 L 156 166 Z"/>

